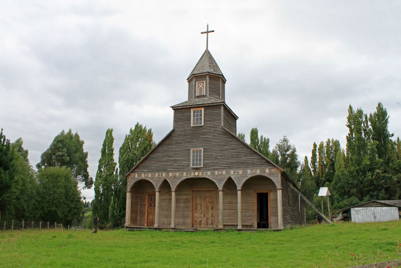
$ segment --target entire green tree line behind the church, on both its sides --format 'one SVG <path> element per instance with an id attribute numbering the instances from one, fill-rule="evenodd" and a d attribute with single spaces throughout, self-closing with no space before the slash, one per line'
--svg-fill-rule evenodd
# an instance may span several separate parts
<path id="1" fill-rule="evenodd" d="M 249 145 L 281 167 L 316 206 L 320 187 L 329 187 L 330 207 L 340 210 L 361 202 L 401 198 L 401 141 L 388 131 L 387 109 L 364 113 L 350 105 L 346 146 L 337 139 L 313 143 L 310 160 L 300 161 L 295 145 L 284 136 L 272 150 L 268 137 L 255 127 Z M 245 141 L 245 134 L 238 133 Z M 139 123 L 131 128 L 114 157 L 113 129 L 107 129 L 93 180 L 87 171 L 88 153 L 78 133 L 64 130 L 42 153 L 35 170 L 21 138 L 10 143 L 0 137 L 0 217 L 2 220 L 43 220 L 81 224 L 83 208 L 91 206 L 87 222 L 99 217 L 99 227 L 118 228 L 125 221 L 125 175 L 155 145 L 152 129 Z M 81 190 L 94 185 L 92 202 L 82 200 Z M 326 202 L 326 201 L 325 201 Z M 308 211 L 309 220 L 314 217 Z"/>

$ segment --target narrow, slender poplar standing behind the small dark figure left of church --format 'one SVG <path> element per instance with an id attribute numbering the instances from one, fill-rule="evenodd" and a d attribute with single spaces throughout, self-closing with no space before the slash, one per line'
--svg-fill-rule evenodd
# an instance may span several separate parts
<path id="1" fill-rule="evenodd" d="M 113 196 L 113 182 L 115 181 L 113 129 L 107 129 L 101 148 L 99 165 L 95 178 L 95 202 L 93 202 L 93 215 L 99 216 L 99 224 L 105 226 L 109 223 L 109 206 Z"/>

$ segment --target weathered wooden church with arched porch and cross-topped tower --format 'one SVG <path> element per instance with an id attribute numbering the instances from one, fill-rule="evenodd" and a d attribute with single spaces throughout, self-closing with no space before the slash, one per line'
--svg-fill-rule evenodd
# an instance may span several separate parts
<path id="1" fill-rule="evenodd" d="M 304 225 L 308 200 L 296 184 L 237 137 L 208 45 L 187 81 L 188 101 L 171 106 L 173 129 L 126 175 L 126 229 Z"/>

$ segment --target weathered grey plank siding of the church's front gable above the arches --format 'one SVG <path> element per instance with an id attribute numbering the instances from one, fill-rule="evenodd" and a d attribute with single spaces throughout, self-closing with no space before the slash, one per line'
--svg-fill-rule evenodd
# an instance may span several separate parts
<path id="1" fill-rule="evenodd" d="M 178 171 L 190 168 L 190 150 L 203 148 L 203 167 L 219 170 L 274 165 L 221 127 L 221 105 L 204 107 L 204 125 L 191 127 L 191 109 L 176 109 L 174 131 L 132 172 Z"/>

